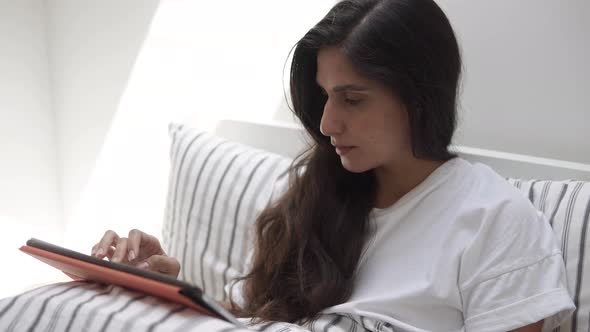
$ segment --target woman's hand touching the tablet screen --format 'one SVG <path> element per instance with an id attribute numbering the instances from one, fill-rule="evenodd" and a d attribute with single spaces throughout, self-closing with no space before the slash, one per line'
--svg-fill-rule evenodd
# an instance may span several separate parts
<path id="1" fill-rule="evenodd" d="M 159 272 L 170 277 L 178 277 L 180 263 L 166 255 L 160 241 L 154 236 L 133 229 L 129 237 L 119 237 L 108 230 L 99 243 L 92 247 L 92 256 L 111 262 L 136 266 L 140 269 Z"/>

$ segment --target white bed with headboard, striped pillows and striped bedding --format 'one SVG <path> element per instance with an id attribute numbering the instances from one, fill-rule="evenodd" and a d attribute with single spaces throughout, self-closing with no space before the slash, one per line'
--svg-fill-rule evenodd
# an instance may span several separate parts
<path id="1" fill-rule="evenodd" d="M 246 270 L 256 214 L 280 195 L 292 158 L 305 148 L 301 128 L 221 121 L 214 134 L 171 124 L 169 186 L 162 229 L 179 278 L 227 299 L 225 285 Z M 590 332 L 590 165 L 453 147 L 507 178 L 551 220 L 577 311 L 560 331 Z M 164 158 L 165 156 L 163 156 Z M 85 282 L 32 289 L 0 300 L 2 331 L 400 331 L 368 317 L 326 314 L 304 326 L 274 322 L 241 328 L 131 290 Z"/>

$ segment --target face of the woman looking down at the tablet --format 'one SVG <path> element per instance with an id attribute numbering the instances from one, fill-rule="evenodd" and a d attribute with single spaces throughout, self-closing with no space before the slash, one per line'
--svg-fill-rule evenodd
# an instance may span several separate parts
<path id="1" fill-rule="evenodd" d="M 328 97 L 320 130 L 344 168 L 357 173 L 414 159 L 407 112 L 390 89 L 361 76 L 337 47 L 320 49 L 317 66 Z"/>

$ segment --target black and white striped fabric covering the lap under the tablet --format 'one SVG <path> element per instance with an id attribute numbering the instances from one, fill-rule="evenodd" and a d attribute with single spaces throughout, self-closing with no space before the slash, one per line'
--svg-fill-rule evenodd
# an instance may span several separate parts
<path id="1" fill-rule="evenodd" d="M 304 326 L 273 322 L 237 327 L 155 297 L 86 282 L 53 284 L 0 300 L 0 331 L 400 332 L 386 323 L 337 314 Z"/>

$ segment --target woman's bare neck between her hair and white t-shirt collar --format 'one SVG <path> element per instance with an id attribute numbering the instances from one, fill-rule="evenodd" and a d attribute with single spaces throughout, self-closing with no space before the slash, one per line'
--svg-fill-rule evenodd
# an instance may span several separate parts
<path id="1" fill-rule="evenodd" d="M 411 158 L 406 162 L 398 162 L 375 169 L 377 177 L 375 207 L 382 209 L 393 205 L 422 183 L 442 164 L 444 161 Z"/>

